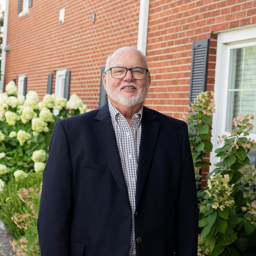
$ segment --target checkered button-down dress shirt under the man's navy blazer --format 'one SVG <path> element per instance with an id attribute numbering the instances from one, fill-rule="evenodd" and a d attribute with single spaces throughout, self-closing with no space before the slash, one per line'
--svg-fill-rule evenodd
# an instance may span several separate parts
<path id="1" fill-rule="evenodd" d="M 110 100 L 108 100 L 108 107 L 112 125 L 116 134 L 117 147 L 132 211 L 131 243 L 129 256 L 136 256 L 134 212 L 143 105 L 139 112 L 133 115 L 130 125 L 128 125 L 125 117 L 112 105 Z"/>

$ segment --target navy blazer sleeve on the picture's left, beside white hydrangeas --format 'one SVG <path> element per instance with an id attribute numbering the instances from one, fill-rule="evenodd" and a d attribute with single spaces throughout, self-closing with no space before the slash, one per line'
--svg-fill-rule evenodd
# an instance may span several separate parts
<path id="1" fill-rule="evenodd" d="M 37 221 L 41 256 L 69 256 L 72 167 L 66 132 L 55 123 L 44 168 Z"/>

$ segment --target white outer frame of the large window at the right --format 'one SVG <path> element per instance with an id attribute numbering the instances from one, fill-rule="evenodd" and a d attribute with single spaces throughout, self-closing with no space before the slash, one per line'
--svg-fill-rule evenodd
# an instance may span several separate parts
<path id="1" fill-rule="evenodd" d="M 216 167 L 214 164 L 219 162 L 219 157 L 215 157 L 214 151 L 223 146 L 218 145 L 218 136 L 230 133 L 225 131 L 227 118 L 227 99 L 229 86 L 229 68 L 230 68 L 230 50 L 242 47 L 256 45 L 256 26 L 248 26 L 245 28 L 234 29 L 232 31 L 224 31 L 218 33 L 217 38 L 217 53 L 216 53 L 216 69 L 215 69 L 215 84 L 214 98 L 216 103 L 216 112 L 212 118 L 212 152 L 210 153 L 209 171 L 212 172 Z M 232 121 L 232 120 L 231 120 Z M 252 139 L 256 140 L 256 134 L 250 134 Z"/>

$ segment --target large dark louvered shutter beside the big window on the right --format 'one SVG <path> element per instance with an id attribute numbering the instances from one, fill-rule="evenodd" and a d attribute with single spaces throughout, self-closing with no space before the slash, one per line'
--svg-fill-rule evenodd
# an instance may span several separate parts
<path id="1" fill-rule="evenodd" d="M 206 90 L 209 41 L 204 39 L 193 42 L 189 103 L 194 102 L 199 92 Z"/>

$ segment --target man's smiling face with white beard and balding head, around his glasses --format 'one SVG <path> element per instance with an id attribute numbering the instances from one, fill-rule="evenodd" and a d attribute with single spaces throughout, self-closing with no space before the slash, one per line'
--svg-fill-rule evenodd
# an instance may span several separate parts
<path id="1" fill-rule="evenodd" d="M 146 63 L 144 57 L 135 49 L 121 48 L 111 56 L 109 62 L 109 68 L 116 66 L 146 68 Z M 127 107 L 135 106 L 145 100 L 151 82 L 148 74 L 143 80 L 134 79 L 130 70 L 123 79 L 113 78 L 110 71 L 107 71 L 102 79 L 110 100 Z"/>

